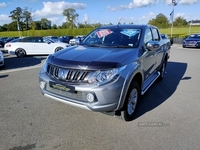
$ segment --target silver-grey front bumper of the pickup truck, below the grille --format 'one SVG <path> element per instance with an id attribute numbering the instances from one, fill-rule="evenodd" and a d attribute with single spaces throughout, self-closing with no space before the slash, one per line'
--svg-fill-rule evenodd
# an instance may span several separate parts
<path id="1" fill-rule="evenodd" d="M 124 79 L 120 77 L 116 81 L 103 86 L 89 84 L 77 85 L 71 83 L 68 84 L 68 86 L 74 87 L 75 92 L 66 92 L 60 89 L 52 88 L 52 86 L 50 86 L 50 82 L 56 82 L 58 84 L 63 83 L 61 81 L 51 79 L 42 70 L 39 74 L 39 81 L 40 83 L 45 83 L 45 86 L 41 88 L 41 92 L 44 96 L 65 104 L 96 112 L 116 111 L 124 83 Z M 89 102 L 87 100 L 89 93 L 93 94 L 95 97 L 93 102 Z"/>

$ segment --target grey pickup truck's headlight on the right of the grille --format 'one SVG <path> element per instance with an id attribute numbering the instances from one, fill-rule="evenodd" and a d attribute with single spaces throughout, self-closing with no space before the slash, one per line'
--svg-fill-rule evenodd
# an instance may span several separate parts
<path id="1" fill-rule="evenodd" d="M 120 68 L 114 68 L 111 70 L 98 70 L 93 73 L 93 75 L 89 78 L 88 82 L 90 84 L 104 84 L 107 83 L 115 77 L 117 77 L 122 70 L 124 70 L 126 66 L 122 66 Z"/>

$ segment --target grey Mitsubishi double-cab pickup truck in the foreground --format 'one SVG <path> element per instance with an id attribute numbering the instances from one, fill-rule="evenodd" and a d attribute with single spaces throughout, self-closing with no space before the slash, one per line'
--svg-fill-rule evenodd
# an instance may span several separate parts
<path id="1" fill-rule="evenodd" d="M 40 89 L 59 102 L 130 121 L 140 96 L 165 77 L 169 57 L 155 26 L 104 26 L 79 45 L 49 55 L 39 73 Z"/>

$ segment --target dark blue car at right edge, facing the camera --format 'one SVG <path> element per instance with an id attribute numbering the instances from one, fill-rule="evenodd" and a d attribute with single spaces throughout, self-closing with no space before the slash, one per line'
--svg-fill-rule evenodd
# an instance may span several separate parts
<path id="1" fill-rule="evenodd" d="M 183 40 L 183 48 L 198 47 L 200 48 L 200 34 L 191 34 Z"/>

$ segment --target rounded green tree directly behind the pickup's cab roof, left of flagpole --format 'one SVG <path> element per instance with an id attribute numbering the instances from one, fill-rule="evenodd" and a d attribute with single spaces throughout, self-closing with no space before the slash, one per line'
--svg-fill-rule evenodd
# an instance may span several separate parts
<path id="1" fill-rule="evenodd" d="M 148 24 L 155 25 L 158 28 L 168 28 L 169 21 L 165 15 L 162 13 L 158 14 L 155 19 L 152 19 L 148 22 Z"/>

